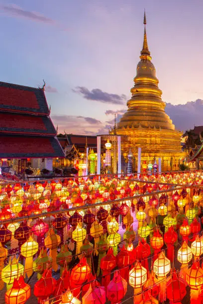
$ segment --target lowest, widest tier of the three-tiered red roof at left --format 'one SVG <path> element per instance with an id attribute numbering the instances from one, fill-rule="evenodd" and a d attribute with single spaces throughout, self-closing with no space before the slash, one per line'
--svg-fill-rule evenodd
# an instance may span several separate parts
<path id="1" fill-rule="evenodd" d="M 55 137 L 0 135 L 0 158 L 64 157 Z"/>

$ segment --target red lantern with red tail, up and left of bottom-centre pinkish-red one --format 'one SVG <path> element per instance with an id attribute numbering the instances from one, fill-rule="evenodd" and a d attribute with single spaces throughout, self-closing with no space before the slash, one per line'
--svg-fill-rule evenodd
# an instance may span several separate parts
<path id="1" fill-rule="evenodd" d="M 100 268 L 102 269 L 102 286 L 106 287 L 110 282 L 110 272 L 116 266 L 116 258 L 113 255 L 113 249 L 110 248 L 107 254 L 102 257 Z"/>

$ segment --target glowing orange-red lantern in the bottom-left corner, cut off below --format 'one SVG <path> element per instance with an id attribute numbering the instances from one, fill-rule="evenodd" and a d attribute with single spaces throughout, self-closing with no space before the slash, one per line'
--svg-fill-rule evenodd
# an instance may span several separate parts
<path id="1" fill-rule="evenodd" d="M 14 279 L 13 286 L 5 293 L 6 304 L 25 304 L 30 298 L 30 286 L 25 284 L 22 276 Z"/>

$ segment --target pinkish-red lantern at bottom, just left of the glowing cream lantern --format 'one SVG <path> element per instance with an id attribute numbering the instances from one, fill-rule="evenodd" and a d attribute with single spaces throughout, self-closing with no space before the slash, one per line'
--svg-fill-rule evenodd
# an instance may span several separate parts
<path id="1" fill-rule="evenodd" d="M 127 291 L 127 281 L 121 278 L 118 270 L 115 271 L 113 279 L 106 288 L 106 297 L 111 304 L 119 303 Z"/>

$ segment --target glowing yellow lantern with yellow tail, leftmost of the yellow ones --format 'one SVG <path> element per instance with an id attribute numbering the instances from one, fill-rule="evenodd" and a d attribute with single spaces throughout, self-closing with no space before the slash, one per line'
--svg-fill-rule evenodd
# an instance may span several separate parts
<path id="1" fill-rule="evenodd" d="M 33 255 L 35 255 L 38 251 L 38 243 L 35 242 L 30 235 L 28 240 L 22 244 L 20 251 L 21 255 L 23 255 L 25 259 L 25 269 L 24 272 L 27 274 L 28 278 L 32 275 L 33 273 Z"/>

